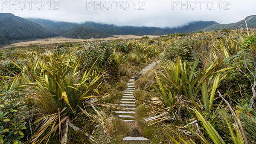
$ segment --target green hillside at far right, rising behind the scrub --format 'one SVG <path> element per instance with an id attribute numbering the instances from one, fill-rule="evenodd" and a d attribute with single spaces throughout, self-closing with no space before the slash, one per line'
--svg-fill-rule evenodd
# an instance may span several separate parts
<path id="1" fill-rule="evenodd" d="M 245 18 L 248 28 L 256 27 L 256 15 L 251 15 Z M 213 31 L 216 29 L 245 29 L 246 25 L 244 20 L 241 20 L 237 23 L 229 23 L 229 24 L 213 24 L 206 28 L 201 29 L 201 31 Z"/>

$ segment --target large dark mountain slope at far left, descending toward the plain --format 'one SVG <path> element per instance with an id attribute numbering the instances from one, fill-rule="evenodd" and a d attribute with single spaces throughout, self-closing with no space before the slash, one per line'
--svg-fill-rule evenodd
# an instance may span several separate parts
<path id="1" fill-rule="evenodd" d="M 0 13 L 0 44 L 55 36 L 58 36 L 58 33 L 54 29 L 49 29 L 10 13 Z"/>

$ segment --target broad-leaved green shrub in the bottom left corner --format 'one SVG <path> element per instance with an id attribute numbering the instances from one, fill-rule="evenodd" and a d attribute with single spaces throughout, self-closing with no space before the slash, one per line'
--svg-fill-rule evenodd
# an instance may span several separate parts
<path id="1" fill-rule="evenodd" d="M 24 107 L 21 107 L 13 91 L 0 92 L 0 144 L 21 144 L 26 122 L 19 114 Z"/>

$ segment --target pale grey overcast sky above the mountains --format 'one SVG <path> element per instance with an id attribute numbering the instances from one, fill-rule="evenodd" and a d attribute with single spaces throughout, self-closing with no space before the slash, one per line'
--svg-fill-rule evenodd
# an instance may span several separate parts
<path id="1" fill-rule="evenodd" d="M 234 23 L 256 15 L 256 0 L 0 0 L 0 12 L 75 23 L 175 27 L 198 20 Z"/>

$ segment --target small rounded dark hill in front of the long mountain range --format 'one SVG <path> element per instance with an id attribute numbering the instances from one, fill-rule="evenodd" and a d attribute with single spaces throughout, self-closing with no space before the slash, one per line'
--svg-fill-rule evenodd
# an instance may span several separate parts
<path id="1" fill-rule="evenodd" d="M 80 26 L 70 32 L 65 33 L 62 36 L 69 38 L 80 37 L 81 39 L 113 37 L 113 35 L 109 35 L 108 33 L 102 32 L 99 29 L 84 26 Z"/>

